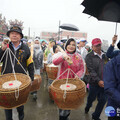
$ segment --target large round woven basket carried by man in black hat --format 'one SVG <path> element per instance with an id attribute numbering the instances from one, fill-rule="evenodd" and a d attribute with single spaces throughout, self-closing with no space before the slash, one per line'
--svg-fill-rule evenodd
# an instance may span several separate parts
<path id="1" fill-rule="evenodd" d="M 16 79 L 22 84 L 19 89 L 4 89 L 2 85 L 5 82 L 15 80 L 14 74 L 4 74 L 0 76 L 0 107 L 4 109 L 12 109 L 26 103 L 30 88 L 31 79 L 28 75 L 15 73 Z"/>

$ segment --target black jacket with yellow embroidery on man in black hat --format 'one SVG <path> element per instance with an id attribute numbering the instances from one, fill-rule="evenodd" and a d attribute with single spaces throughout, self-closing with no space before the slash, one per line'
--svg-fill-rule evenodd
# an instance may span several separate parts
<path id="1" fill-rule="evenodd" d="M 12 47 L 12 44 L 10 43 L 9 48 L 10 48 L 11 52 L 10 52 L 10 54 L 8 54 L 8 57 L 7 57 L 7 54 L 5 53 L 5 51 L 2 51 L 2 49 L 0 48 L 0 60 L 5 53 L 5 55 L 2 59 L 3 65 L 2 65 L 1 73 L 3 72 L 5 66 L 6 66 L 6 69 L 3 74 L 13 73 L 13 68 L 12 68 L 12 64 L 11 64 L 11 62 L 12 62 L 15 73 L 26 74 L 25 71 L 23 70 L 23 68 L 24 68 L 26 71 L 28 70 L 31 79 L 33 80 L 34 79 L 34 67 L 33 67 L 33 60 L 31 57 L 29 47 L 27 45 L 25 45 L 24 43 L 22 43 L 20 48 L 15 51 L 14 48 Z M 12 53 L 18 59 L 20 64 L 23 66 L 23 68 L 20 66 L 19 62 L 15 59 L 15 57 L 13 56 Z M 12 61 L 10 60 L 10 55 L 11 55 Z M 6 64 L 6 62 L 7 62 L 7 64 Z"/>

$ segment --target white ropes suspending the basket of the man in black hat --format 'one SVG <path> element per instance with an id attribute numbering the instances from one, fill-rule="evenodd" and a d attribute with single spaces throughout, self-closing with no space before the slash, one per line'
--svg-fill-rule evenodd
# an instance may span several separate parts
<path id="1" fill-rule="evenodd" d="M 2 73 L 1 73 L 2 75 L 4 74 L 4 72 L 5 72 L 5 70 L 6 70 L 7 60 L 8 60 L 8 54 L 9 54 L 9 56 L 10 56 L 10 62 L 11 62 L 12 70 L 13 70 L 12 72 L 13 72 L 14 78 L 15 78 L 14 81 L 17 81 L 17 78 L 16 78 L 16 75 L 15 75 L 15 69 L 14 69 L 14 64 L 13 64 L 13 62 L 12 62 L 12 56 L 11 56 L 11 54 L 14 56 L 15 60 L 17 60 L 17 62 L 18 62 L 19 65 L 22 67 L 22 69 L 24 70 L 24 72 L 28 75 L 28 73 L 26 72 L 26 70 L 24 69 L 24 67 L 21 65 L 21 63 L 19 62 L 19 60 L 16 58 L 16 56 L 14 55 L 14 53 L 13 53 L 13 52 L 11 51 L 11 49 L 9 48 L 9 44 L 7 44 L 7 49 L 6 49 L 5 52 L 3 53 L 3 56 L 2 56 L 2 58 L 0 59 L 0 62 L 3 60 L 5 54 L 6 54 L 5 67 L 4 67 L 4 69 L 3 69 Z M 17 88 L 15 89 L 15 98 L 16 98 L 16 101 L 17 101 L 18 98 L 19 98 L 19 87 L 17 87 Z"/>

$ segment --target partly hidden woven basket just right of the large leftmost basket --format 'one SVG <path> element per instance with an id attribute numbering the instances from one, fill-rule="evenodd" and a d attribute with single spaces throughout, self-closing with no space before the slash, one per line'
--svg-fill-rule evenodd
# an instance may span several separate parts
<path id="1" fill-rule="evenodd" d="M 30 91 L 33 92 L 33 91 L 39 90 L 41 82 L 42 82 L 41 76 L 34 75 L 34 81 L 32 81 L 32 86 L 31 86 Z"/>

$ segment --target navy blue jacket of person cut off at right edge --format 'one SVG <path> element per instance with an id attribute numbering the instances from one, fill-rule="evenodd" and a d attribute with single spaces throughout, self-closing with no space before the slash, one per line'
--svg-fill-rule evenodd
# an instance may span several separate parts
<path id="1" fill-rule="evenodd" d="M 120 108 L 120 54 L 106 64 L 103 80 L 108 95 L 108 106 Z"/>

